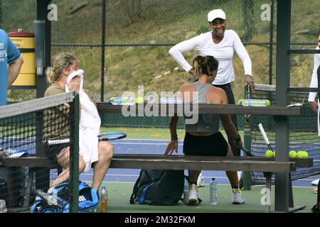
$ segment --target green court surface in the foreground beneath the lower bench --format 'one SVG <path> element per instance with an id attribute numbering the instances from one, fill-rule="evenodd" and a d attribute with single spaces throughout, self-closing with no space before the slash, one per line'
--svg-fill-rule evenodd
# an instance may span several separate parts
<path id="1" fill-rule="evenodd" d="M 252 187 L 250 191 L 242 191 L 245 204 L 231 204 L 231 190 L 228 185 L 218 185 L 218 204 L 209 204 L 208 184 L 198 189 L 198 196 L 203 201 L 198 206 L 149 206 L 140 204 L 129 204 L 132 194 L 133 183 L 105 182 L 108 191 L 108 212 L 109 213 L 264 213 L 265 206 L 262 206 L 261 199 L 263 186 Z M 274 187 L 272 187 L 272 206 L 274 211 Z M 294 204 L 304 205 L 304 210 L 299 213 L 311 213 L 310 209 L 316 203 L 316 194 L 312 194 L 311 188 L 294 187 Z M 99 212 L 99 209 L 97 209 Z"/>

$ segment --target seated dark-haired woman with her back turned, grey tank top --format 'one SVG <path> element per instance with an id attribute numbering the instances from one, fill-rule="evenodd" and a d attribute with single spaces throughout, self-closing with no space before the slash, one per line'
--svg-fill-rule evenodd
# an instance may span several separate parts
<path id="1" fill-rule="evenodd" d="M 197 56 L 193 59 L 193 69 L 198 74 L 197 84 L 184 84 L 178 94 L 183 101 L 193 103 L 228 104 L 228 98 L 223 89 L 211 86 L 218 69 L 218 62 L 212 56 Z M 196 93 L 198 92 L 198 95 Z M 194 95 L 193 95 L 194 94 Z M 198 97 L 198 100 L 195 100 Z M 235 125 L 231 121 L 230 114 L 212 115 L 210 122 L 204 122 L 203 115 L 199 114 L 198 122 L 188 125 L 186 123 L 186 135 L 183 140 L 183 153 L 185 155 L 208 155 L 208 156 L 233 156 L 230 145 L 219 131 L 219 118 L 223 123 L 225 131 L 233 136 L 235 145 L 242 147 L 242 141 Z M 167 145 L 165 155 L 178 152 L 178 135 L 176 126 L 178 116 L 172 116 L 170 120 L 171 141 Z M 196 182 L 201 170 L 189 170 L 190 192 L 189 205 L 198 204 Z M 244 199 L 238 187 L 238 174 L 236 171 L 226 171 L 231 187 L 233 189 L 233 204 L 243 204 Z"/>

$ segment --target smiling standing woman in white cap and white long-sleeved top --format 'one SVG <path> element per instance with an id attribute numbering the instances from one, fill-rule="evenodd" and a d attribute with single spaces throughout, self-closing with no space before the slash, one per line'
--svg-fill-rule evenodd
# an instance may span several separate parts
<path id="1" fill-rule="evenodd" d="M 190 50 L 198 50 L 201 56 L 211 55 L 215 57 L 219 62 L 219 67 L 213 85 L 225 91 L 228 97 L 228 104 L 235 104 L 235 97 L 230 85 L 230 83 L 235 80 L 233 53 L 234 51 L 237 52 L 242 60 L 245 69 L 245 83 L 249 84 L 252 91 L 254 91 L 255 83 L 251 78 L 251 60 L 239 35 L 233 30 L 226 30 L 225 12 L 223 10 L 215 9 L 210 11 L 208 13 L 208 22 L 212 31 L 174 45 L 174 47 L 169 50 L 169 53 L 186 72 L 192 74 L 196 79 L 198 79 L 198 74 L 192 70 L 191 65 L 186 61 L 182 53 Z M 232 115 L 231 118 L 237 127 L 237 116 Z M 232 136 L 228 135 L 228 141 L 232 146 L 233 155 L 240 156 L 240 149 L 233 146 Z"/>

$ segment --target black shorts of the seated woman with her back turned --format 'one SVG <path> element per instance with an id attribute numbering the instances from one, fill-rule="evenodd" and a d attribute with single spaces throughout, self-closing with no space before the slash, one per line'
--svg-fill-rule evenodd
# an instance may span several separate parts
<path id="1" fill-rule="evenodd" d="M 183 154 L 227 156 L 228 143 L 220 132 L 208 136 L 196 136 L 186 132 L 183 140 Z"/>

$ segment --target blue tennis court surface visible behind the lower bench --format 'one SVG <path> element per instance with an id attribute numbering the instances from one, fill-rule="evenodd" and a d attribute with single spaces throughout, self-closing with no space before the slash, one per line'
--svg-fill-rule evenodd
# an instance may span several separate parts
<path id="1" fill-rule="evenodd" d="M 151 154 L 163 155 L 169 140 L 117 140 L 112 142 L 114 154 Z M 178 155 L 182 153 L 183 141 L 178 143 Z M 136 182 L 140 170 L 132 169 L 109 169 L 105 176 L 105 182 Z M 92 181 L 93 170 L 80 175 L 82 181 Z M 205 183 L 208 184 L 212 177 L 215 177 L 218 184 L 229 184 L 228 178 L 223 171 L 203 171 Z M 312 176 L 304 179 L 297 179 L 292 182 L 296 187 L 312 187 L 311 182 L 320 176 Z"/>

